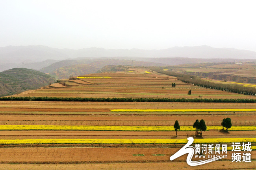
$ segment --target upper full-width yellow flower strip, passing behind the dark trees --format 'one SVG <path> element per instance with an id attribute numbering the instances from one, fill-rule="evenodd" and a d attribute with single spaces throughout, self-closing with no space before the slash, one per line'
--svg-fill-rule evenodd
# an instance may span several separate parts
<path id="1" fill-rule="evenodd" d="M 222 126 L 207 126 L 207 130 L 221 130 Z M 0 125 L 0 130 L 84 130 L 84 131 L 174 131 L 173 126 L 54 126 Z M 179 131 L 194 131 L 192 126 L 180 126 Z M 230 131 L 256 130 L 256 126 L 232 126 Z"/>

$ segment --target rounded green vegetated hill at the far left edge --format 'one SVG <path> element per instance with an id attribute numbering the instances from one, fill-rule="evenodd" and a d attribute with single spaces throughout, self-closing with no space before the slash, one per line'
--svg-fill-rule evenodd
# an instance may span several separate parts
<path id="1" fill-rule="evenodd" d="M 41 88 L 55 81 L 50 75 L 26 68 L 0 72 L 0 97 Z"/>

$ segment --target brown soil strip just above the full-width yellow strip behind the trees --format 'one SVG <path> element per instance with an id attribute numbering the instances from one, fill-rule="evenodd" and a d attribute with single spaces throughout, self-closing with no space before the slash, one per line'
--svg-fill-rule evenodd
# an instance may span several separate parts
<path id="1" fill-rule="evenodd" d="M 68 126 L 172 126 L 179 121 L 181 126 L 193 126 L 196 119 L 204 119 L 208 126 L 220 126 L 224 115 L 2 115 L 0 125 L 68 125 Z M 256 115 L 228 115 L 233 125 L 256 125 Z M 214 118 L 214 119 L 213 119 Z"/>

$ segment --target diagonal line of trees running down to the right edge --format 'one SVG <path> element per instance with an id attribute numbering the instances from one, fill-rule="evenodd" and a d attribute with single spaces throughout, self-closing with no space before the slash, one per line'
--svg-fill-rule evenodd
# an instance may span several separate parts
<path id="1" fill-rule="evenodd" d="M 164 71 L 164 70 L 160 70 L 160 68 L 151 69 L 151 70 L 157 71 L 158 73 L 163 73 L 166 75 L 177 77 L 177 79 L 181 80 L 182 82 L 191 83 L 199 87 L 222 90 L 222 91 L 231 91 L 233 93 L 239 93 L 244 95 L 256 95 L 256 88 L 254 87 L 245 87 L 237 84 L 222 84 L 222 83 L 210 82 L 207 80 L 202 80 L 198 76 L 180 74 L 173 71 Z"/>

